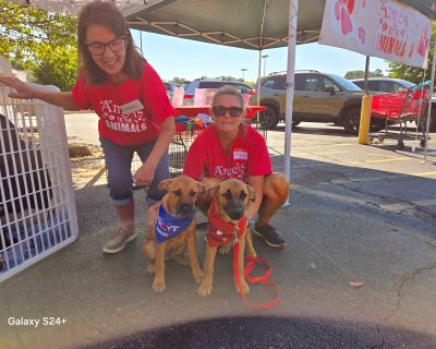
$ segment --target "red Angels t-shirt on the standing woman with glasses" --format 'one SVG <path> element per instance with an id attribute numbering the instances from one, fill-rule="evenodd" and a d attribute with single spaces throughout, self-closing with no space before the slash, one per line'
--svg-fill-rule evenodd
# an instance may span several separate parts
<path id="1" fill-rule="evenodd" d="M 105 84 L 89 85 L 81 74 L 72 88 L 75 104 L 83 108 L 94 107 L 100 118 L 100 136 L 119 145 L 140 145 L 156 140 L 160 124 L 175 115 L 159 75 L 144 61 L 140 80 L 128 77 L 117 85 L 110 79 Z M 122 111 L 122 106 L 135 106 Z"/>

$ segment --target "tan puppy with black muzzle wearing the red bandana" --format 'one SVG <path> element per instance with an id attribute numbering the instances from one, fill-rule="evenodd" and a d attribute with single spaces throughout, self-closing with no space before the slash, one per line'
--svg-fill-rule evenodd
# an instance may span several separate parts
<path id="1" fill-rule="evenodd" d="M 214 196 L 208 212 L 206 256 L 204 277 L 198 287 L 198 294 L 210 296 L 214 282 L 214 263 L 219 245 L 239 242 L 238 278 L 244 293 L 250 292 L 244 279 L 245 245 L 249 254 L 255 255 L 250 231 L 247 231 L 246 206 L 254 201 L 254 189 L 237 179 L 228 179 L 209 189 Z M 237 292 L 239 291 L 238 281 Z"/>

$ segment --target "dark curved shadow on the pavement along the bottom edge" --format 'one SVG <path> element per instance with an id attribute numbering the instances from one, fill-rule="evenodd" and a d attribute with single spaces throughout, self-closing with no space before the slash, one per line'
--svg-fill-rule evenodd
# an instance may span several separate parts
<path id="1" fill-rule="evenodd" d="M 393 327 L 299 317 L 201 320 L 84 348 L 435 348 L 436 337 Z"/>

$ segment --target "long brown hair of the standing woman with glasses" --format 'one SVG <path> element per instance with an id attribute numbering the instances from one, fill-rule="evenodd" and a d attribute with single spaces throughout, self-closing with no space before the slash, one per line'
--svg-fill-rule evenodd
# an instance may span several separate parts
<path id="1" fill-rule="evenodd" d="M 78 63 L 86 82 L 98 85 L 105 83 L 108 77 L 108 74 L 94 62 L 86 47 L 86 32 L 93 24 L 112 31 L 117 37 L 125 37 L 125 61 L 122 71 L 133 79 L 141 79 L 144 58 L 133 46 L 132 34 L 121 11 L 111 2 L 93 1 L 82 9 L 77 23 Z"/>

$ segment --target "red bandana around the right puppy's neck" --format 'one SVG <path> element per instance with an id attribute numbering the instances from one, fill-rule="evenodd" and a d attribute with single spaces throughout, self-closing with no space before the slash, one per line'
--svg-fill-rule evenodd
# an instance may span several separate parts
<path id="1" fill-rule="evenodd" d="M 209 246 L 216 248 L 228 241 L 238 241 L 244 233 L 246 227 L 246 216 L 238 225 L 232 225 L 223 220 L 218 215 L 217 203 L 214 200 L 207 214 L 207 242 Z"/>

